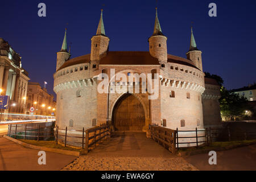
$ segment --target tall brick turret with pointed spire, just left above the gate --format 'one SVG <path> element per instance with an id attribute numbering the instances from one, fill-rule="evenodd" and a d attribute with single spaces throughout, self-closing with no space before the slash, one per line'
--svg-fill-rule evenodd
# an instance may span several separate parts
<path id="1" fill-rule="evenodd" d="M 102 57 L 106 56 L 109 47 L 109 38 L 105 35 L 102 10 L 96 35 L 94 35 L 91 40 L 92 47 L 90 49 L 90 60 L 100 60 Z"/>

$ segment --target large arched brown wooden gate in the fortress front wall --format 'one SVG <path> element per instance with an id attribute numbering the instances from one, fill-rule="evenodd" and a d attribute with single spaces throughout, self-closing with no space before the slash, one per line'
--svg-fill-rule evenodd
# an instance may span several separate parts
<path id="1" fill-rule="evenodd" d="M 142 131 L 145 114 L 141 102 L 133 94 L 124 94 L 114 106 L 113 124 L 117 131 Z"/>

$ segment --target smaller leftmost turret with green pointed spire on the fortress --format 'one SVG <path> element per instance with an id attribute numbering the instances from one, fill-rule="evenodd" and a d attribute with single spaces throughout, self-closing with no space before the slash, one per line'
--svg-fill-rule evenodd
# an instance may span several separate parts
<path id="1" fill-rule="evenodd" d="M 61 50 L 57 52 L 56 71 L 70 58 L 70 53 L 67 51 L 67 28 L 65 29 L 65 36 L 61 46 Z"/>

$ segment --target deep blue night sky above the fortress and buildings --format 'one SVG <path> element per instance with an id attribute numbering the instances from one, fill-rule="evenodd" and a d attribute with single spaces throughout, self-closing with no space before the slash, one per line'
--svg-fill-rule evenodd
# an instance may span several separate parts
<path id="1" fill-rule="evenodd" d="M 38 4 L 46 3 L 46 17 L 38 16 Z M 217 5 L 217 17 L 209 17 L 208 5 Z M 102 5 L 105 6 L 102 6 Z M 145 1 L 2 1 L 0 37 L 22 56 L 30 81 L 47 81 L 53 92 L 56 52 L 67 27 L 71 55 L 90 53 L 101 9 L 109 51 L 148 51 L 147 39 L 155 23 L 155 0 Z M 186 57 L 191 22 L 197 48 L 203 52 L 204 72 L 224 79 L 228 89 L 256 81 L 256 1 L 158 1 L 158 18 L 167 36 L 167 51 Z M 68 23 L 68 25 L 67 25 Z M 55 95 L 55 94 L 54 94 Z"/>

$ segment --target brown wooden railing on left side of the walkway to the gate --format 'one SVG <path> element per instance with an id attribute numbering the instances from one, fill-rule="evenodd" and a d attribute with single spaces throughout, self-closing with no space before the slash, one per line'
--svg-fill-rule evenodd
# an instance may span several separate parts
<path id="1" fill-rule="evenodd" d="M 64 130 L 65 134 L 59 134 L 59 130 Z M 61 136 L 64 138 L 63 142 L 64 146 L 66 147 L 67 142 L 71 142 L 69 138 L 78 138 L 80 139 L 80 142 L 72 141 L 71 143 L 81 144 L 82 150 L 85 150 L 85 153 L 88 153 L 91 147 L 96 146 L 96 143 L 100 143 L 102 139 L 110 137 L 110 126 L 107 124 L 102 124 L 87 130 L 84 130 L 84 127 L 82 130 L 72 130 L 81 132 L 82 137 L 68 135 L 68 131 L 70 131 L 68 130 L 68 127 L 65 127 L 65 129 L 59 129 L 59 126 L 56 126 L 55 142 L 57 143 L 59 141 L 59 137 Z"/>

